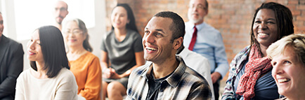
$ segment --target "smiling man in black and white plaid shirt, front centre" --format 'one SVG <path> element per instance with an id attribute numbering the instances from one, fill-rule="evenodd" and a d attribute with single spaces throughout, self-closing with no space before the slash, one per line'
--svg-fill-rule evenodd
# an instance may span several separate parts
<path id="1" fill-rule="evenodd" d="M 176 13 L 152 17 L 143 36 L 144 58 L 152 63 L 132 71 L 126 99 L 211 99 L 207 80 L 175 55 L 184 32 L 184 22 Z"/>

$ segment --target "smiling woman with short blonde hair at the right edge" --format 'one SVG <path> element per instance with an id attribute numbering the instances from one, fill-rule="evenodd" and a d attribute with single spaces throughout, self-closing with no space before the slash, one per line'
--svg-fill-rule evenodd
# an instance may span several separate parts
<path id="1" fill-rule="evenodd" d="M 267 49 L 272 59 L 272 76 L 282 100 L 305 99 L 305 35 L 293 34 L 276 41 Z"/>

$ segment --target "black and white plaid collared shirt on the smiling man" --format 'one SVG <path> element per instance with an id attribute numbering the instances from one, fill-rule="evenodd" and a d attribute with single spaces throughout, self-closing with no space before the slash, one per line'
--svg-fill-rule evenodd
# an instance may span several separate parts
<path id="1" fill-rule="evenodd" d="M 190 69 L 183 59 L 176 56 L 179 66 L 174 73 L 161 83 L 157 99 L 211 99 L 212 92 L 207 80 L 200 73 Z M 132 71 L 129 76 L 126 99 L 144 100 L 148 94 L 148 76 L 152 63 L 145 64 Z"/>

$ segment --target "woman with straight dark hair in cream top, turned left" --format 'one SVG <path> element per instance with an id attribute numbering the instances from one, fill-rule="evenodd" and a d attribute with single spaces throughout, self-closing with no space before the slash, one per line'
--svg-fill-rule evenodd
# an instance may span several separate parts
<path id="1" fill-rule="evenodd" d="M 27 58 L 31 68 L 18 77 L 15 99 L 77 99 L 77 83 L 58 28 L 36 29 L 27 43 Z"/>

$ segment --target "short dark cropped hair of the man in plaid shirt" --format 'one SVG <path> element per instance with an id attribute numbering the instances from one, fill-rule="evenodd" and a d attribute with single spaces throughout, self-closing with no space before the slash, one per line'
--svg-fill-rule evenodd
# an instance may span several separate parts
<path id="1" fill-rule="evenodd" d="M 171 43 L 173 43 L 176 38 L 184 37 L 186 32 L 186 25 L 184 24 L 182 17 L 180 17 L 177 13 L 171 11 L 162 11 L 155 14 L 154 17 L 168 17 L 173 20 L 170 27 L 170 29 L 173 31 L 173 36 L 171 36 Z"/>

